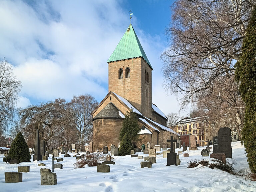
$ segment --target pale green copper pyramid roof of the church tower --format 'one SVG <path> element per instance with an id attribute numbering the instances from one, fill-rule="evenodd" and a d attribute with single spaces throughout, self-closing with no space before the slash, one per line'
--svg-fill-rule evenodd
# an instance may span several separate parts
<path id="1" fill-rule="evenodd" d="M 149 67 L 153 70 L 140 44 L 140 41 L 132 27 L 132 24 L 130 24 L 107 62 L 110 63 L 114 61 L 132 59 L 136 57 L 142 57 L 149 65 Z"/>

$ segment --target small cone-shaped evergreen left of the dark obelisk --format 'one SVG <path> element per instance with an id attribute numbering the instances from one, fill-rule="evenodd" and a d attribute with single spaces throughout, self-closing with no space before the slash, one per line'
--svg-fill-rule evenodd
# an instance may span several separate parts
<path id="1" fill-rule="evenodd" d="M 20 162 L 30 162 L 31 155 L 29 153 L 28 144 L 26 143 L 21 132 L 18 133 L 12 142 L 8 158 L 6 158 L 8 162 L 10 162 L 12 159 L 17 159 Z"/>

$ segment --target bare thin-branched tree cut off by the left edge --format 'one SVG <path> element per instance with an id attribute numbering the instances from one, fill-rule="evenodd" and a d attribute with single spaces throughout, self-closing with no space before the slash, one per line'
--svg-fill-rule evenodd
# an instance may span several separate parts
<path id="1" fill-rule="evenodd" d="M 21 82 L 14 76 L 12 66 L 0 61 L 0 130 L 4 131 L 12 121 Z"/>

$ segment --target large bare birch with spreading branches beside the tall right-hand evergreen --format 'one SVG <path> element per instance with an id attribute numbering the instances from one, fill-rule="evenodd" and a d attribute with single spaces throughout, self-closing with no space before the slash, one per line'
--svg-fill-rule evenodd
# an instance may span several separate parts
<path id="1" fill-rule="evenodd" d="M 166 89 L 182 96 L 181 107 L 217 102 L 223 113 L 233 112 L 239 134 L 243 105 L 234 64 L 253 6 L 253 0 L 177 0 L 169 48 L 161 56 Z"/>

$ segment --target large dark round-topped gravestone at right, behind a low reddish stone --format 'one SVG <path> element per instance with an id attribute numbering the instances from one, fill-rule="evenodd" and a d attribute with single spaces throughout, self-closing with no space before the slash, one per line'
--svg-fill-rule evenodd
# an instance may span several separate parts
<path id="1" fill-rule="evenodd" d="M 221 127 L 218 131 L 218 153 L 225 153 L 226 158 L 232 158 L 231 130 Z"/>

